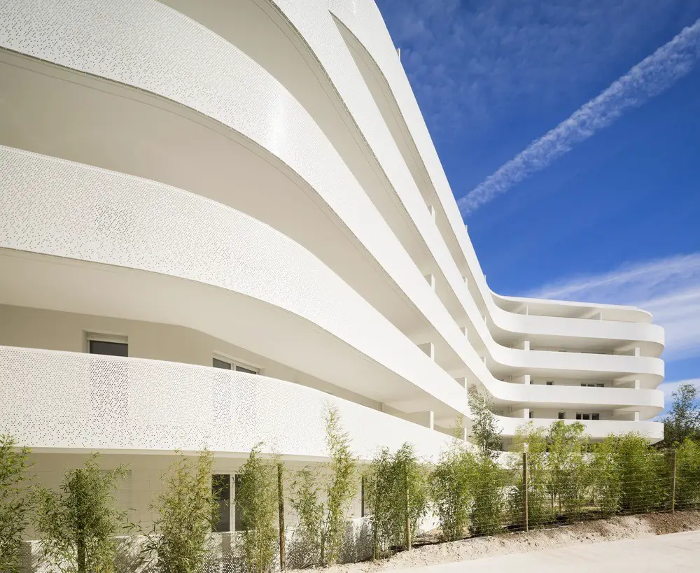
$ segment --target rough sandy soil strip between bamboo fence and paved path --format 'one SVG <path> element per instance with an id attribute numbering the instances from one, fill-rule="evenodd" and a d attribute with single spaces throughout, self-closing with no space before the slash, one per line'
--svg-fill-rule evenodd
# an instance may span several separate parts
<path id="1" fill-rule="evenodd" d="M 574 523 L 528 533 L 504 533 L 496 537 L 476 537 L 458 542 L 434 543 L 400 551 L 387 559 L 325 567 L 326 573 L 364 573 L 381 570 L 423 567 L 507 555 L 531 553 L 557 547 L 641 539 L 666 533 L 700 530 L 700 511 L 676 511 L 675 514 L 646 514 L 614 517 Z M 305 570 L 308 572 L 308 570 Z"/>

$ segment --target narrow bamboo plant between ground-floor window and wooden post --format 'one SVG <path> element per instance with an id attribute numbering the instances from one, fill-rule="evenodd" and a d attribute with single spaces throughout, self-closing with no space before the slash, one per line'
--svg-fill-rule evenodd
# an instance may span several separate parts
<path id="1" fill-rule="evenodd" d="M 241 557 L 249 571 L 268 573 L 274 569 L 279 542 L 277 527 L 277 464 L 260 458 L 257 444 L 239 472 L 236 504 L 242 512 Z"/>

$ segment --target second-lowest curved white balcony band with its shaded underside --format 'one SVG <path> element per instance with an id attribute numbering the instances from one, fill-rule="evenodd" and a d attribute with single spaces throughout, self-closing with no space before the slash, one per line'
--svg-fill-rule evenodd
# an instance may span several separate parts
<path id="1" fill-rule="evenodd" d="M 5 304 L 179 324 L 377 402 L 465 413 L 447 372 L 275 229 L 104 169 L 8 148 L 0 164 Z"/>

